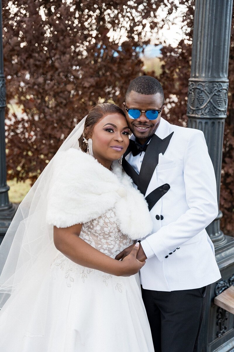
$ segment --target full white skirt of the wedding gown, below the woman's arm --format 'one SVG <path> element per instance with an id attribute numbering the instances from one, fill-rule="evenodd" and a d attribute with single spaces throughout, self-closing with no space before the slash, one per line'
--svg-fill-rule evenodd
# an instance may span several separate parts
<path id="1" fill-rule="evenodd" d="M 59 254 L 37 282 L 32 277 L 0 312 L 1 352 L 154 352 L 134 276 L 111 276 Z"/>

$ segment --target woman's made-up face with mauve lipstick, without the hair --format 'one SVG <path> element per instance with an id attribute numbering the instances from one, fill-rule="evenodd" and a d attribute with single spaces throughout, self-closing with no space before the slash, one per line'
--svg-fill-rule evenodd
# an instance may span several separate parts
<path id="1" fill-rule="evenodd" d="M 123 115 L 110 114 L 94 126 L 92 136 L 93 155 L 96 159 L 119 159 L 129 145 L 129 128 Z"/>

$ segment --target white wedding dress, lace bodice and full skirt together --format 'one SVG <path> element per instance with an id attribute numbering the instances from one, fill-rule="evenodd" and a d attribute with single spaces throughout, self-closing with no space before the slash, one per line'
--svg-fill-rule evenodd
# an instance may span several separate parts
<path id="1" fill-rule="evenodd" d="M 120 232 L 113 209 L 86 222 L 80 238 L 112 258 L 133 243 Z M 3 314 L 1 352 L 154 352 L 136 276 L 85 268 L 57 251 L 40 290 L 48 305 L 43 298 L 34 302 L 27 331 L 45 319 L 45 334 L 25 334 L 19 322 Z M 2 328 L 6 319 L 11 338 Z"/>

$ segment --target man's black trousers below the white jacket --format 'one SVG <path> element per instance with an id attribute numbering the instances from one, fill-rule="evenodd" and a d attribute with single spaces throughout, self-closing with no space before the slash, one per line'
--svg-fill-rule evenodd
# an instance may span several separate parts
<path id="1" fill-rule="evenodd" d="M 181 291 L 152 291 L 142 288 L 155 352 L 195 352 L 206 287 Z"/>

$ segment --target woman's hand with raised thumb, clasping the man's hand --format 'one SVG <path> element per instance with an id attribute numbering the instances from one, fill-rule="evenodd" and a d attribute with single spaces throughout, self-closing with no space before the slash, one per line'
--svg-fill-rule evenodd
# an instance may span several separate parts
<path id="1" fill-rule="evenodd" d="M 118 276 L 131 276 L 137 274 L 137 272 L 145 265 L 145 260 L 140 262 L 136 256 L 139 250 L 139 242 L 135 244 L 132 248 L 131 252 L 126 256 L 121 262 L 120 265 L 120 272 L 118 272 Z"/>

